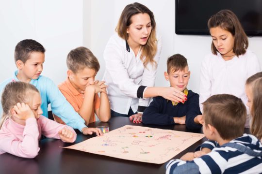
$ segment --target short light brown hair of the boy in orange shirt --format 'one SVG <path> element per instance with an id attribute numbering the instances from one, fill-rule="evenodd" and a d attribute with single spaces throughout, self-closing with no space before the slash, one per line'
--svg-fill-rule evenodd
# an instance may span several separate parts
<path id="1" fill-rule="evenodd" d="M 78 73 L 84 68 L 93 69 L 97 73 L 100 69 L 98 59 L 93 55 L 90 49 L 83 46 L 77 47 L 68 53 L 66 65 L 73 73 Z"/>

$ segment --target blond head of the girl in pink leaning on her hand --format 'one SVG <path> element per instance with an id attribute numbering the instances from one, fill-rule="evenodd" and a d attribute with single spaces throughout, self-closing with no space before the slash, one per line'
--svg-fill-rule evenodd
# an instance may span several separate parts
<path id="1" fill-rule="evenodd" d="M 18 120 L 14 117 L 17 114 L 14 113 L 16 112 L 14 107 L 17 103 L 28 104 L 36 118 L 43 113 L 41 110 L 40 94 L 36 87 L 25 82 L 10 82 L 5 86 L 1 96 L 3 113 L 0 128 L 7 118 L 12 117 L 15 121 Z M 19 123 L 21 124 L 21 121 Z"/>

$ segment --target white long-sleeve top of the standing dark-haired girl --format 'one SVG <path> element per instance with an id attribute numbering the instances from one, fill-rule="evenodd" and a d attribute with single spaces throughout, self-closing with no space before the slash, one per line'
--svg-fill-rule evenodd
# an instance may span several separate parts
<path id="1" fill-rule="evenodd" d="M 260 63 L 256 55 L 246 50 L 244 55 L 224 60 L 222 56 L 209 54 L 202 61 L 200 73 L 199 104 L 215 94 L 232 94 L 241 98 L 246 105 L 246 79 L 260 72 Z M 248 107 L 247 108 L 247 113 Z"/>

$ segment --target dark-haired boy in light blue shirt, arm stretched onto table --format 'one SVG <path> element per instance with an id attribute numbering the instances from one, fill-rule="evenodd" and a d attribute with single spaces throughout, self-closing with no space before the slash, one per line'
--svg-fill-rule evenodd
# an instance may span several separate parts
<path id="1" fill-rule="evenodd" d="M 47 77 L 40 75 L 43 71 L 45 61 L 45 48 L 42 44 L 31 40 L 23 40 L 16 45 L 15 62 L 17 71 L 13 78 L 9 78 L 0 84 L 0 91 L 11 81 L 22 81 L 34 85 L 41 95 L 41 109 L 43 116 L 48 117 L 48 104 L 51 104 L 52 112 L 74 129 L 82 131 L 83 134 L 101 135 L 102 132 L 96 128 L 87 128 L 84 120 L 78 115 L 73 107 L 66 101 L 58 87 Z M 0 113 L 2 106 L 0 105 Z"/>

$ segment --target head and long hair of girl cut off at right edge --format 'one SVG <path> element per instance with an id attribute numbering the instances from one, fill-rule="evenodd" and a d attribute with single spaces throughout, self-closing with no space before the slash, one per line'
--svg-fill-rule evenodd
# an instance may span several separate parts
<path id="1" fill-rule="evenodd" d="M 250 132 L 262 139 L 262 72 L 256 73 L 246 80 L 246 96 L 252 116 Z"/>

